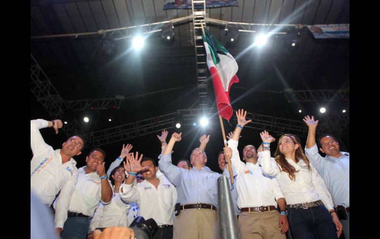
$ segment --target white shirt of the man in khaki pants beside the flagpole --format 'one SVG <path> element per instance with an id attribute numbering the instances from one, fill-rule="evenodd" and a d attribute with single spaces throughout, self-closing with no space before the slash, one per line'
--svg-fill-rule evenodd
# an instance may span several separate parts
<path id="1" fill-rule="evenodd" d="M 259 163 L 241 162 L 237 145 L 238 141 L 228 140 L 228 147 L 232 149 L 231 164 L 237 173 L 237 205 L 240 208 L 269 205 L 277 208 L 276 200 L 284 198 L 284 195 L 276 178 L 264 174 Z"/>

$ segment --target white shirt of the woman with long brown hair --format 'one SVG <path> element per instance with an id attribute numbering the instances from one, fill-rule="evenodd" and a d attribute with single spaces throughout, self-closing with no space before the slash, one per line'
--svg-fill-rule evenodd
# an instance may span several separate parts
<path id="1" fill-rule="evenodd" d="M 297 164 L 291 159 L 286 160 L 298 171 L 295 172 L 296 180 L 291 180 L 287 172 L 280 170 L 280 166 L 270 157 L 270 151 L 259 152 L 259 163 L 263 171 L 276 176 L 286 203 L 302 204 L 322 200 L 328 210 L 333 209 L 331 194 L 317 170 L 310 165 L 310 171 L 302 159 Z"/>

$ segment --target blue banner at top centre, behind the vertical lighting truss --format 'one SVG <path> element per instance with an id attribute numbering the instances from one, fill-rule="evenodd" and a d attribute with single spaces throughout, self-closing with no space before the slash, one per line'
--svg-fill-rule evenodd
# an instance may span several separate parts
<path id="1" fill-rule="evenodd" d="M 237 0 L 206 0 L 206 8 L 238 6 Z M 199 4 L 195 8 L 202 8 Z M 164 10 L 169 9 L 191 9 L 191 0 L 165 0 Z"/>

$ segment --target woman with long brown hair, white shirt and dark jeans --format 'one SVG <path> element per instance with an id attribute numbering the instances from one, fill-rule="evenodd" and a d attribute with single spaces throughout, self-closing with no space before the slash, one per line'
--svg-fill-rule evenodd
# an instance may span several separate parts
<path id="1" fill-rule="evenodd" d="M 337 239 L 342 234 L 342 224 L 334 210 L 331 194 L 304 155 L 299 138 L 291 134 L 282 135 L 275 159 L 271 159 L 269 145 L 275 139 L 266 131 L 260 136 L 264 151 L 259 152 L 259 163 L 263 171 L 276 176 L 280 184 L 293 237 Z"/>

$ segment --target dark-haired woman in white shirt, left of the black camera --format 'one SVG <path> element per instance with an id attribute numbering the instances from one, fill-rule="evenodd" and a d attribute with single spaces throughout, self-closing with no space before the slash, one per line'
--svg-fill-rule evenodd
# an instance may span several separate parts
<path id="1" fill-rule="evenodd" d="M 132 222 L 129 221 L 130 217 L 128 216 L 129 210 L 132 210 L 131 205 L 124 203 L 120 199 L 119 194 L 120 186 L 126 179 L 123 165 L 114 168 L 110 174 L 110 180 L 114 185 L 114 195 L 110 204 L 103 205 L 100 203 L 96 209 L 90 224 L 89 239 L 91 239 L 92 232 L 97 228 L 104 229 L 107 227 L 128 227 Z M 133 212 L 129 214 L 133 214 Z"/>

